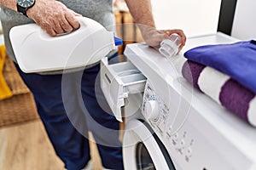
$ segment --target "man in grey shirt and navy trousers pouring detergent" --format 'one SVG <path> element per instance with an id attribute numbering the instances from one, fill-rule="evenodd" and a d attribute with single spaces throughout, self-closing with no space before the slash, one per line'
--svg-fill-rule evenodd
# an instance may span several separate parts
<path id="1" fill-rule="evenodd" d="M 33 0 L 25 1 L 33 3 Z M 9 42 L 9 30 L 13 26 L 36 22 L 50 36 L 55 37 L 78 29 L 79 20 L 76 16 L 83 15 L 96 20 L 108 30 L 113 30 L 114 27 L 112 0 L 35 0 L 25 9 L 20 9 L 17 2 L 19 0 L 0 0 L 5 45 L 15 62 L 15 54 Z M 183 31 L 155 29 L 149 0 L 126 0 L 126 3 L 149 46 L 159 46 L 163 39 L 177 33 L 183 39 L 180 49 L 183 48 Z M 99 104 L 104 105 L 106 101 L 99 88 L 98 64 L 91 65 L 84 71 L 67 71 L 65 74 L 62 74 L 63 71 L 26 74 L 16 66 L 34 95 L 38 114 L 44 122 L 55 152 L 68 170 L 89 168 L 88 130 L 96 139 L 103 167 L 123 169 L 119 122 L 109 114 L 108 106 Z"/>

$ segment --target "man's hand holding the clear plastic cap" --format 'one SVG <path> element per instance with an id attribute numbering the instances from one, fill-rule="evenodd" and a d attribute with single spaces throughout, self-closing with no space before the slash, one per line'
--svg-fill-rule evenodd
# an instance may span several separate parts
<path id="1" fill-rule="evenodd" d="M 154 27 L 139 26 L 141 28 L 143 39 L 151 47 L 159 47 L 160 42 L 164 39 L 168 39 L 171 34 L 177 33 L 182 37 L 182 43 L 179 46 L 179 51 L 183 48 L 186 42 L 186 36 L 182 30 L 156 30 Z"/>

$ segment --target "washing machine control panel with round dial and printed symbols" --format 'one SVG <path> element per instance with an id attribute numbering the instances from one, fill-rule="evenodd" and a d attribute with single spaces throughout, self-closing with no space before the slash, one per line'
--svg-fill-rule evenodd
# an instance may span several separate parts
<path id="1" fill-rule="evenodd" d="M 143 94 L 143 116 L 162 142 L 170 146 L 172 150 L 176 150 L 178 155 L 183 156 L 184 161 L 189 162 L 192 158 L 195 139 L 189 137 L 189 132 L 181 128 L 177 130 L 172 128 L 173 113 L 168 104 L 169 101 L 163 101 L 154 86 L 147 81 Z"/>

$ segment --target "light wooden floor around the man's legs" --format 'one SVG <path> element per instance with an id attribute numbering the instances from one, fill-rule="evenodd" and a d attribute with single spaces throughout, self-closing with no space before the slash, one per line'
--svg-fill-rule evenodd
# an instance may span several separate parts
<path id="1" fill-rule="evenodd" d="M 90 139 L 92 139 L 90 135 Z M 94 170 L 102 169 L 96 144 L 90 142 Z M 41 121 L 0 128 L 0 170 L 64 170 Z"/>

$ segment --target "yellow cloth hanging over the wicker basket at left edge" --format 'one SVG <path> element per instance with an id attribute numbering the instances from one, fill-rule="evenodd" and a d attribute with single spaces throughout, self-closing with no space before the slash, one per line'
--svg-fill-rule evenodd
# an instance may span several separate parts
<path id="1" fill-rule="evenodd" d="M 0 100 L 6 99 L 12 96 L 12 92 L 9 89 L 3 77 L 3 65 L 5 63 L 5 57 L 6 57 L 5 46 L 1 45 L 0 46 Z"/>

